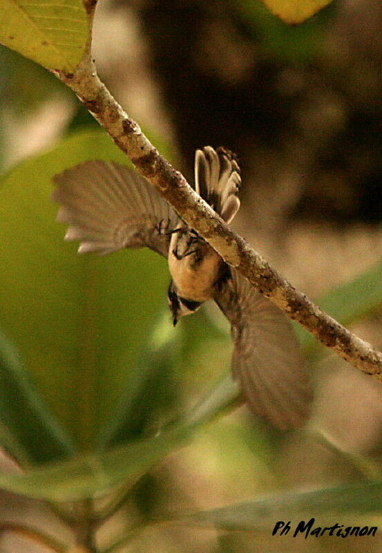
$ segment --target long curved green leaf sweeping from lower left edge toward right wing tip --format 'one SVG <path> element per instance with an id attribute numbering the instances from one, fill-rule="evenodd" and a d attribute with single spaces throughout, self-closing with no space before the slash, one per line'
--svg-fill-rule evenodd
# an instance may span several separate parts
<path id="1" fill-rule="evenodd" d="M 157 338 L 165 344 L 169 336 Z M 169 422 L 154 436 L 125 443 L 106 453 L 77 456 L 25 474 L 0 475 L 0 488 L 39 499 L 72 501 L 93 497 L 117 485 L 133 486 L 153 465 L 184 446 L 206 422 L 231 407 L 237 393 L 237 384 L 231 375 L 226 375 L 189 413 Z M 109 435 L 107 433 L 106 438 Z M 115 435 L 120 438 L 118 433 Z"/>

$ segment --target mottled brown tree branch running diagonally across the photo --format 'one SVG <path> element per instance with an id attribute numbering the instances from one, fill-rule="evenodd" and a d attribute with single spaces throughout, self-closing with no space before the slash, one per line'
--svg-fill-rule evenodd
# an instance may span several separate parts
<path id="1" fill-rule="evenodd" d="M 111 135 L 115 144 L 131 159 L 137 171 L 157 188 L 182 219 L 211 244 L 229 265 L 322 344 L 364 373 L 382 379 L 382 353 L 321 311 L 222 221 L 193 191 L 184 176 L 158 153 L 140 126 L 115 101 L 99 80 L 90 57 L 84 58 L 75 73 L 53 73 L 72 88 Z"/>

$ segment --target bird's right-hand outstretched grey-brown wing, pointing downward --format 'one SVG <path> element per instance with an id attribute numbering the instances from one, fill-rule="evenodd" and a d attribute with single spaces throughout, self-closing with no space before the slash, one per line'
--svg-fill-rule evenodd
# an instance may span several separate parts
<path id="1" fill-rule="evenodd" d="M 215 301 L 231 322 L 233 376 L 249 407 L 280 429 L 298 427 L 311 388 L 289 321 L 232 269 Z"/>

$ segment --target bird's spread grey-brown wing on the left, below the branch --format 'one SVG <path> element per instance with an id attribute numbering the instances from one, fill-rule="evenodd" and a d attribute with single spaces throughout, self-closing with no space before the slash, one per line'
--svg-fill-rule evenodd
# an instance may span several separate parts
<path id="1" fill-rule="evenodd" d="M 79 253 L 108 254 L 122 247 L 150 247 L 167 256 L 179 218 L 152 185 L 125 165 L 89 161 L 54 177 L 57 221 Z"/>

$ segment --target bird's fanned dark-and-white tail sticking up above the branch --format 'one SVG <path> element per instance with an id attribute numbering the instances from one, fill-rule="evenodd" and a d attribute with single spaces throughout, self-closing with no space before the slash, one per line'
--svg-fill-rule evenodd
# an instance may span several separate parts
<path id="1" fill-rule="evenodd" d="M 195 190 L 226 223 L 238 212 L 241 179 L 235 156 L 225 148 L 206 146 L 195 152 Z"/>

